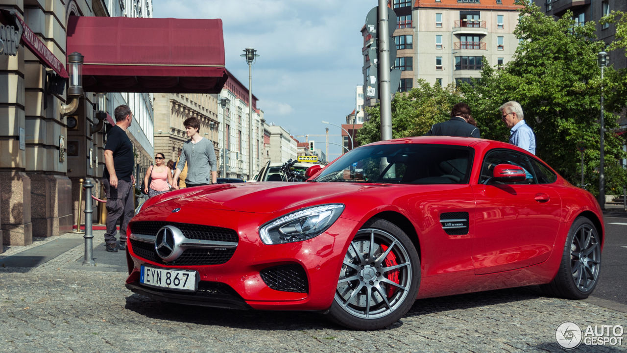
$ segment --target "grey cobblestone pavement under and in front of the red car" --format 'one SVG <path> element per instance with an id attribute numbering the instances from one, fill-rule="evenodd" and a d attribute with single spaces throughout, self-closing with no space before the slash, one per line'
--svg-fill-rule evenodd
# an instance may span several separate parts
<path id="1" fill-rule="evenodd" d="M 0 352 L 561 352 L 561 322 L 627 327 L 627 313 L 530 287 L 418 300 L 391 327 L 358 332 L 319 313 L 157 303 L 126 290 L 125 273 L 72 269 L 81 256 L 0 268 Z M 574 350 L 617 351 L 627 342 Z"/>

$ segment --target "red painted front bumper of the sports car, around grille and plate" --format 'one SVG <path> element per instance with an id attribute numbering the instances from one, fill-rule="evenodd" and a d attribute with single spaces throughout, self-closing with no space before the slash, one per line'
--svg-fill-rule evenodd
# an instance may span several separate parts
<path id="1" fill-rule="evenodd" d="M 261 242 L 257 229 L 260 224 L 268 222 L 276 215 L 190 208 L 182 209 L 177 213 L 167 212 L 167 217 L 155 217 L 155 212 L 158 211 L 150 209 L 146 214 L 142 212 L 135 216 L 132 222 L 164 220 L 226 227 L 238 233 L 238 246 L 233 257 L 226 263 L 206 266 L 171 266 L 154 263 L 137 256 L 132 246 L 129 246 L 130 274 L 127 279 L 127 288 L 155 300 L 221 308 L 263 310 L 325 310 L 329 308 L 335 295 L 337 278 L 344 254 L 349 246 L 349 239 L 352 239 L 361 226 L 359 222 L 340 217 L 323 234 L 307 241 L 266 245 Z M 142 264 L 198 271 L 201 285 L 223 283 L 232 288 L 236 296 L 224 301 L 225 298 L 215 296 L 205 298 L 206 295 L 181 294 L 142 286 L 139 283 Z M 307 293 L 274 290 L 266 285 L 260 271 L 285 264 L 302 266 L 307 275 Z"/>

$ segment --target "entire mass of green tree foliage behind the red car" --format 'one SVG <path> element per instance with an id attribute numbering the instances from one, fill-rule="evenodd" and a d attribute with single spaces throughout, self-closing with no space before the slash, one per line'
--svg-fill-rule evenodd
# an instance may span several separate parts
<path id="1" fill-rule="evenodd" d="M 610 48 L 627 46 L 627 20 L 617 22 L 617 41 Z M 534 129 L 536 155 L 557 170 L 574 185 L 581 183 L 581 155 L 577 143 L 587 150 L 584 155 L 585 183 L 588 190 L 598 194 L 599 112 L 601 89 L 604 87 L 605 106 L 605 173 L 606 193 L 616 193 L 627 183 L 624 168 L 626 158 L 621 145 L 623 138 L 613 130 L 619 113 L 627 103 L 627 74 L 597 66 L 597 53 L 604 49 L 596 41 L 593 21 L 578 25 L 567 11 L 561 19 L 546 16 L 535 4 L 521 9 L 514 33 L 522 41 L 514 58 L 502 70 L 494 70 L 484 58 L 480 80 L 472 85 L 431 87 L 419 81 L 409 94 L 398 94 L 392 103 L 393 136 L 421 136 L 432 124 L 448 119 L 451 107 L 466 102 L 472 109 L 482 138 L 508 141 L 510 131 L 501 121 L 498 111 L 509 100 L 519 102 L 525 121 Z M 381 122 L 379 107 L 367 109 L 371 120 L 357 134 L 361 144 L 378 141 Z"/>

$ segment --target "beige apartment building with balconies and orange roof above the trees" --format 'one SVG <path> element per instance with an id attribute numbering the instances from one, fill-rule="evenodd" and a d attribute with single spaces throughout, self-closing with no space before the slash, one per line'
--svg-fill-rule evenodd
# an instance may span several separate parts
<path id="1" fill-rule="evenodd" d="M 513 31 L 520 6 L 514 0 L 393 0 L 390 6 L 398 19 L 391 43 L 394 68 L 401 70 L 399 92 L 411 90 L 419 79 L 443 86 L 470 82 L 484 65 L 512 60 L 519 43 Z M 361 32 L 367 85 L 376 70 L 367 53 L 376 41 L 365 27 Z M 374 106 L 375 98 L 366 95 L 366 106 Z"/>

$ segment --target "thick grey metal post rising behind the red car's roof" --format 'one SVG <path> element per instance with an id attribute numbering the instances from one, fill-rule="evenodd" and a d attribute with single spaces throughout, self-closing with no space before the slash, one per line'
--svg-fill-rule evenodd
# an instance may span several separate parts
<path id="1" fill-rule="evenodd" d="M 381 140 L 392 139 L 392 102 L 390 97 L 390 51 L 387 28 L 387 0 L 379 0 L 379 92 L 381 95 Z"/>

